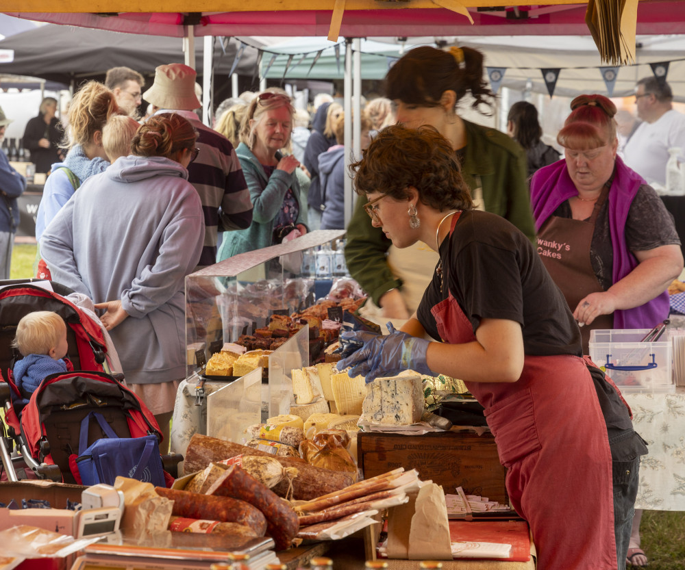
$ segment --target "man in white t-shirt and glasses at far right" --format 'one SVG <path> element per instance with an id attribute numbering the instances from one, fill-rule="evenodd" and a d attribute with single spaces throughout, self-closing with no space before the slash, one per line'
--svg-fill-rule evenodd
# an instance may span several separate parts
<path id="1" fill-rule="evenodd" d="M 666 185 L 669 148 L 685 151 L 685 115 L 673 109 L 673 92 L 666 81 L 645 77 L 637 82 L 635 103 L 642 124 L 625 145 L 625 164 L 647 183 Z M 681 152 L 680 161 L 685 161 Z"/>

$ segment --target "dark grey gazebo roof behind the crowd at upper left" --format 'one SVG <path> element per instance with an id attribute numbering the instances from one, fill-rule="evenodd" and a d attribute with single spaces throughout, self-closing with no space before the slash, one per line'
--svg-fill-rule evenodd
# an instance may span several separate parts
<path id="1" fill-rule="evenodd" d="M 214 73 L 228 75 L 236 56 L 236 40 L 214 42 Z M 0 41 L 12 50 L 12 61 L 0 62 L 1 74 L 29 75 L 69 85 L 103 79 L 109 68 L 127 66 L 152 77 L 159 65 L 183 62 L 182 40 L 60 25 L 45 25 Z M 197 72 L 203 73 L 202 44 L 195 46 Z M 251 75 L 256 51 L 242 52 L 238 73 Z"/>

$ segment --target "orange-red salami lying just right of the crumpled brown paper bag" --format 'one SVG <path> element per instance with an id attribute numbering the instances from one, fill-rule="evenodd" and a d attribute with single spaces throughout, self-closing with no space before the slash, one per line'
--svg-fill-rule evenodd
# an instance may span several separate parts
<path id="1" fill-rule="evenodd" d="M 257 536 L 264 536 L 266 532 L 266 519 L 262 511 L 245 501 L 229 497 L 211 497 L 165 487 L 155 487 L 155 492 L 160 497 L 173 501 L 171 515 L 175 517 L 240 523 L 249 526 L 257 533 Z"/>

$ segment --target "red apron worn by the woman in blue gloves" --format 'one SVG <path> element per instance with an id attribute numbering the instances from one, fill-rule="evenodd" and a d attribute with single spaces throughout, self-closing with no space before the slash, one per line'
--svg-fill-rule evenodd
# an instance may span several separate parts
<path id="1" fill-rule="evenodd" d="M 444 342 L 475 341 L 451 293 L 431 312 Z M 611 452 L 584 361 L 526 356 L 515 383 L 466 386 L 485 408 L 510 500 L 531 528 L 538 570 L 615 570 Z"/>

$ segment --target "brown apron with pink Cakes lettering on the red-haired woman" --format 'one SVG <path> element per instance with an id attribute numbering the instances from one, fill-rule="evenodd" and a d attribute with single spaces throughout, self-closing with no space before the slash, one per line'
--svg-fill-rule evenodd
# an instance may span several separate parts
<path id="1" fill-rule="evenodd" d="M 604 291 L 590 261 L 590 246 L 599 210 L 608 193 L 609 187 L 605 185 L 588 220 L 551 216 L 538 231 L 538 255 L 554 283 L 564 294 L 572 313 L 581 299 L 590 293 Z M 592 324 L 580 327 L 583 354 L 590 354 L 590 331 L 595 328 L 614 328 L 614 316 L 599 315 Z"/>

